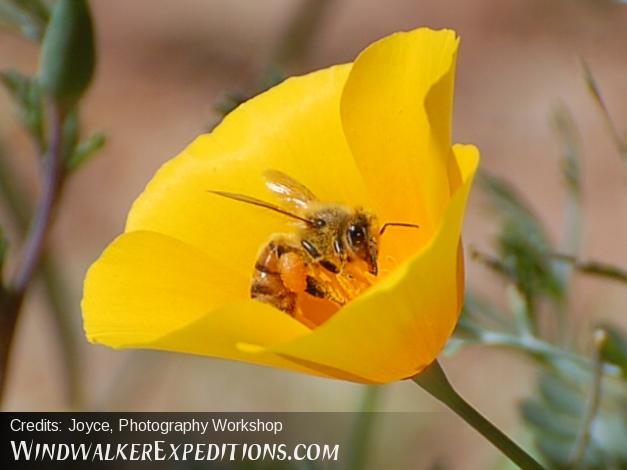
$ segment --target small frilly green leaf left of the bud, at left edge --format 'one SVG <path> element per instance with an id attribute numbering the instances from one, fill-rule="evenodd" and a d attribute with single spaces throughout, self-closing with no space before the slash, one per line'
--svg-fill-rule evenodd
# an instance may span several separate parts
<path id="1" fill-rule="evenodd" d="M 39 83 L 17 70 L 0 72 L 0 81 L 19 106 L 19 119 L 38 147 L 44 143 L 43 100 Z"/>

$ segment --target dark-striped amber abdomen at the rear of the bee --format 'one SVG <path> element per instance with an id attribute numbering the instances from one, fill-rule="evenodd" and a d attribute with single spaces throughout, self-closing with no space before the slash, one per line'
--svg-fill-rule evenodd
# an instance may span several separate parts
<path id="1" fill-rule="evenodd" d="M 296 293 L 283 283 L 279 265 L 279 258 L 288 251 L 287 247 L 275 242 L 263 249 L 255 264 L 250 296 L 292 315 L 296 308 Z"/>

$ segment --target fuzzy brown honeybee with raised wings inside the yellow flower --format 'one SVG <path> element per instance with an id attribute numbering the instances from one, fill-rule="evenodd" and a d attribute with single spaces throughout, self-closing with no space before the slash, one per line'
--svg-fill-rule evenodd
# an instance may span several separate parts
<path id="1" fill-rule="evenodd" d="M 297 315 L 299 296 L 346 304 L 379 273 L 379 238 L 388 222 L 361 208 L 320 201 L 307 187 L 277 170 L 264 172 L 266 187 L 278 196 L 275 205 L 243 194 L 209 191 L 215 195 L 263 207 L 296 222 L 292 233 L 272 235 L 255 263 L 250 296 Z"/>

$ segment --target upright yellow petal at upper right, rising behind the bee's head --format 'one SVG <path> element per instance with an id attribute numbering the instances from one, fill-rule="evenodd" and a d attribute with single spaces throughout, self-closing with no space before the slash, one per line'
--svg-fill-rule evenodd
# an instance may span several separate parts
<path id="1" fill-rule="evenodd" d="M 404 247 L 391 253 L 397 261 L 431 238 L 459 182 L 450 150 L 457 46 L 449 30 L 388 36 L 359 55 L 342 94 L 344 132 L 373 209 L 383 222 L 420 224 L 394 235 Z"/>

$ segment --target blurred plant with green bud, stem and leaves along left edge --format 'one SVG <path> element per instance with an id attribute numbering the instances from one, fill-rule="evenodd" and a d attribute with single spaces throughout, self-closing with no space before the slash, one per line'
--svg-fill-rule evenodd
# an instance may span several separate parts
<path id="1" fill-rule="evenodd" d="M 68 401 L 77 401 L 78 334 L 68 315 L 63 286 L 54 260 L 44 250 L 62 188 L 67 178 L 104 146 L 105 138 L 95 133 L 82 139 L 80 99 L 86 92 L 95 68 L 95 39 L 86 0 L 0 0 L 0 25 L 40 44 L 39 70 L 28 76 L 16 70 L 0 71 L 0 82 L 13 98 L 18 119 L 31 137 L 42 170 L 39 201 L 25 197 L 27 191 L 13 175 L 11 165 L 0 155 L 0 197 L 13 219 L 18 237 L 24 237 L 16 269 L 0 285 L 0 394 L 6 377 L 11 339 L 23 298 L 41 267 L 44 292 L 53 313 L 54 330 L 59 334 L 66 370 Z M 34 213 L 31 208 L 37 207 Z M 2 255 L 6 251 L 1 244 Z M 12 254 L 12 253 L 11 253 Z"/>

